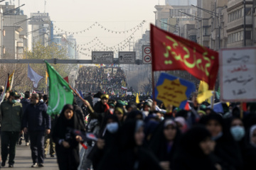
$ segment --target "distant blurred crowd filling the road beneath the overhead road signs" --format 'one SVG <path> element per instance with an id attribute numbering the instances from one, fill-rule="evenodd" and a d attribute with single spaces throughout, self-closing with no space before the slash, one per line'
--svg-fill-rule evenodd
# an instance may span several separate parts
<path id="1" fill-rule="evenodd" d="M 127 89 L 122 89 L 122 86 Z M 75 79 L 75 89 L 97 93 L 105 91 L 107 94 L 119 94 L 128 90 L 127 78 L 121 67 L 81 67 L 78 78 Z"/>

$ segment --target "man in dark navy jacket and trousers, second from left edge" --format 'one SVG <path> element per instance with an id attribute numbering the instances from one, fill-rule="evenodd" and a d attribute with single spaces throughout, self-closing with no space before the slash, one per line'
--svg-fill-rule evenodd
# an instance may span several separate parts
<path id="1" fill-rule="evenodd" d="M 46 111 L 46 103 L 39 102 L 38 94 L 32 94 L 31 104 L 24 112 L 22 123 L 23 131 L 28 132 L 31 139 L 33 159 L 31 167 L 43 166 L 45 131 L 46 134 L 50 134 L 50 115 Z"/>

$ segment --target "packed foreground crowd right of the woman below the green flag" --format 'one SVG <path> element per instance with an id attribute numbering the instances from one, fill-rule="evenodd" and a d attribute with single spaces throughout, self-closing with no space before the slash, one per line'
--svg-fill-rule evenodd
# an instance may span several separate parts
<path id="1" fill-rule="evenodd" d="M 239 103 L 215 113 L 207 102 L 191 100 L 186 111 L 150 98 L 125 103 L 95 94 L 82 111 L 85 132 L 98 138 L 85 142 L 78 169 L 254 169 L 255 110 L 241 118 Z"/>

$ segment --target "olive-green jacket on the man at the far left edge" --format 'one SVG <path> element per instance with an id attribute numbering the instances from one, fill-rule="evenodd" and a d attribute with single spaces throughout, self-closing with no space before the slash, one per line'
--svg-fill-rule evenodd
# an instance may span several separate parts
<path id="1" fill-rule="evenodd" d="M 21 131 L 22 104 L 4 101 L 1 103 L 1 131 Z"/>

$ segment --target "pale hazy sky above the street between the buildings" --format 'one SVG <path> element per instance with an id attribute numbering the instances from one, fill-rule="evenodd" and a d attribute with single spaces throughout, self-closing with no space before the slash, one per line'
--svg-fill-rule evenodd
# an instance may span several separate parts
<path id="1" fill-rule="evenodd" d="M 18 6 L 18 0 L 15 0 L 14 3 Z M 30 13 L 44 11 L 44 0 L 20 0 L 20 4 L 26 4 L 21 9 L 28 17 L 30 17 Z M 154 23 L 154 6 L 158 4 L 164 5 L 164 0 L 47 0 L 46 13 L 49 13 L 55 26 L 71 32 L 84 30 L 96 21 L 110 30 L 123 31 L 134 28 L 145 20 L 143 29 L 134 34 L 133 40 L 136 41 L 142 38 L 142 33 L 145 30 L 149 30 L 149 23 Z M 92 30 L 74 36 L 78 44 L 85 44 L 97 37 L 105 45 L 113 46 L 131 34 L 132 32 L 109 33 L 100 27 L 94 27 Z M 92 44 L 84 47 L 91 46 Z M 99 47 L 95 47 L 95 49 L 100 50 Z M 82 52 L 90 54 L 90 51 Z"/>

